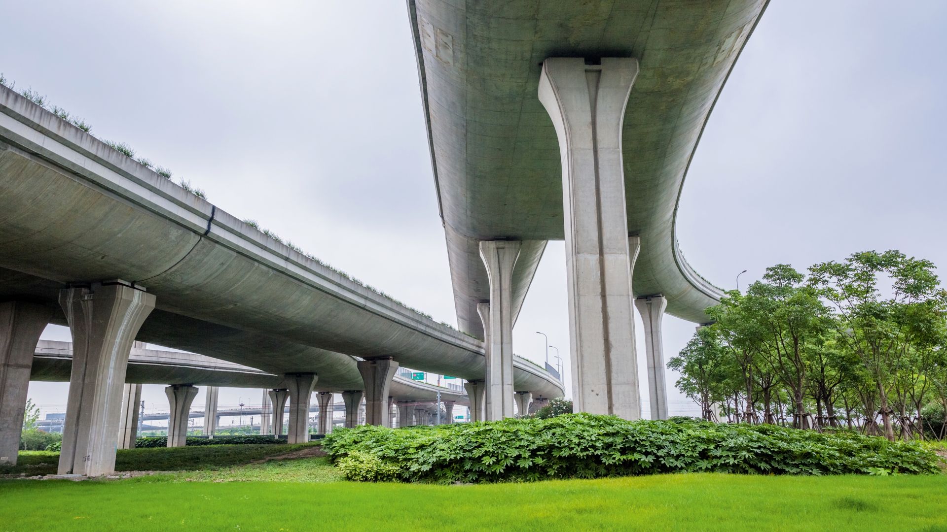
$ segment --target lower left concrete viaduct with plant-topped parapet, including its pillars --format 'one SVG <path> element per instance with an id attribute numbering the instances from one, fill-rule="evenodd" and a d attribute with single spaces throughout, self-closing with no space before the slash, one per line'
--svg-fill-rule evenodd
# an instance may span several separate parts
<path id="1" fill-rule="evenodd" d="M 282 376 L 290 441 L 308 437 L 308 413 L 293 404 L 308 404 L 313 390 L 345 390 L 355 402 L 364 394 L 366 421 L 386 423 L 400 365 L 469 381 L 474 413 L 482 410 L 480 340 L 366 289 L 0 87 L 0 434 L 19 431 L 48 323 L 67 325 L 75 346 L 61 473 L 114 469 L 135 340 Z M 511 396 L 563 396 L 556 377 L 525 360 L 510 378 Z M 15 456 L 12 440 L 0 455 Z"/>

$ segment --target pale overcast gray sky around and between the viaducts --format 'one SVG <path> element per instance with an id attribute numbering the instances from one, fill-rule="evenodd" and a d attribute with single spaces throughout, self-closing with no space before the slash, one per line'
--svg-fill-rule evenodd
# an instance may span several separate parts
<path id="1" fill-rule="evenodd" d="M 456 323 L 403 1 L 0 0 L 0 12 L 0 72 L 18 89 Z M 945 23 L 940 1 L 775 0 L 688 172 L 677 222 L 688 262 L 726 289 L 743 269 L 745 287 L 779 262 L 867 249 L 947 265 Z M 536 330 L 566 356 L 562 242 L 546 249 L 514 330 L 516 353 L 542 361 Z M 693 330 L 667 317 L 666 356 Z M 33 383 L 29 395 L 64 406 L 65 391 Z M 221 403 L 259 397 L 223 390 Z M 160 386 L 144 399 L 167 410 Z M 696 412 L 672 392 L 672 414 Z"/>

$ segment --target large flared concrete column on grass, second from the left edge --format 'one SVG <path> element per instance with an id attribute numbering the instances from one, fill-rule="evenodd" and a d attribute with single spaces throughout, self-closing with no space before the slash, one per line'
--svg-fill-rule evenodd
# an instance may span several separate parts
<path id="1" fill-rule="evenodd" d="M 154 295 L 122 281 L 60 291 L 72 332 L 72 374 L 63 424 L 60 474 L 115 471 L 121 390 L 134 337 Z"/>

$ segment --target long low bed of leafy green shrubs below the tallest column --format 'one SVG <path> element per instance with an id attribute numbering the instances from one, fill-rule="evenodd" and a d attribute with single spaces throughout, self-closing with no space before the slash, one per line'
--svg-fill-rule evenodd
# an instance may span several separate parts
<path id="1" fill-rule="evenodd" d="M 362 481 L 531 481 L 674 471 L 939 471 L 935 453 L 875 436 L 589 414 L 458 423 L 425 431 L 361 426 L 332 432 L 323 440 L 323 450 L 348 479 Z"/>

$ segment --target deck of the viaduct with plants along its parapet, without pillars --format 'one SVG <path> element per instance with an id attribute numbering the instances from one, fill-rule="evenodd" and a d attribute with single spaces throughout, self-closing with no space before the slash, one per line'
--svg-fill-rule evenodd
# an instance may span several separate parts
<path id="1" fill-rule="evenodd" d="M 145 284 L 161 296 L 141 341 L 313 372 L 335 389 L 360 381 L 350 356 L 461 378 L 484 372 L 474 338 L 266 237 L 6 87 L 0 225 L 0 276 L 18 281 L 0 285 L 0 297 L 53 302 L 64 283 L 85 279 Z M 562 394 L 543 371 L 514 372 L 524 389 Z"/>

